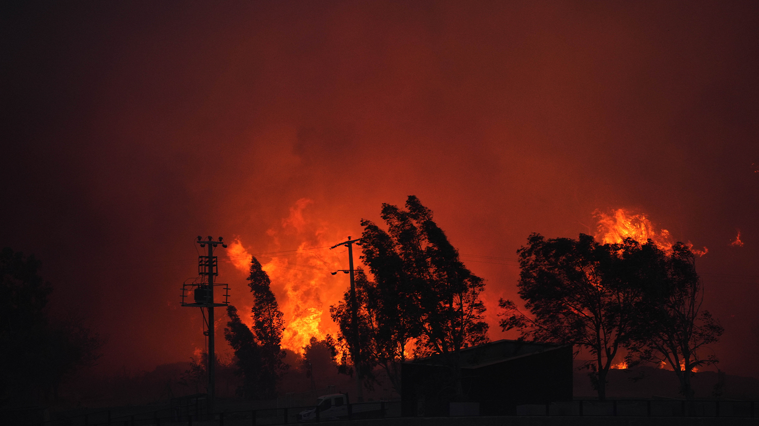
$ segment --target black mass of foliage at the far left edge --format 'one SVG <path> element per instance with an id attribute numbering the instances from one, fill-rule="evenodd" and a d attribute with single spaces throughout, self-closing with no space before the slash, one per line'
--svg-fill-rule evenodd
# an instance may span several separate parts
<path id="1" fill-rule="evenodd" d="M 0 253 L 0 403 L 57 399 L 58 387 L 99 358 L 102 338 L 69 315 L 55 321 L 46 310 L 50 283 L 34 256 Z"/>

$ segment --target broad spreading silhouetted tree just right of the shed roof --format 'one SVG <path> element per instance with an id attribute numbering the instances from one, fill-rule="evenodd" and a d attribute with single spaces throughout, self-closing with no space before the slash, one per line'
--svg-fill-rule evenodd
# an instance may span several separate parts
<path id="1" fill-rule="evenodd" d="M 631 281 L 628 262 L 632 240 L 600 245 L 592 236 L 546 240 L 533 233 L 518 250 L 519 296 L 531 315 L 501 299 L 503 330 L 517 328 L 523 337 L 587 348 L 599 399 L 606 397 L 606 374 L 619 349 L 628 343 L 641 299 Z"/>

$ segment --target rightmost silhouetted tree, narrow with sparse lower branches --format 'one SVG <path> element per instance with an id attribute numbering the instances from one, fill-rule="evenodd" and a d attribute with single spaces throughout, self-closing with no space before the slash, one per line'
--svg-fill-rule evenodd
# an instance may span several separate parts
<path id="1" fill-rule="evenodd" d="M 644 298 L 638 317 L 641 321 L 631 335 L 631 350 L 644 361 L 669 364 L 680 381 L 681 393 L 693 399 L 694 368 L 718 362 L 713 354 L 702 356 L 699 349 L 719 340 L 724 329 L 701 309 L 704 287 L 689 246 L 676 243 L 667 255 L 649 243 L 641 253 L 637 268 Z"/>

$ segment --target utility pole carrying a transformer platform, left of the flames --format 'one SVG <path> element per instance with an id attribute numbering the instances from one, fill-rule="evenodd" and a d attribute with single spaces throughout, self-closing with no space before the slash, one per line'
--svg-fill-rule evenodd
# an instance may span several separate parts
<path id="1" fill-rule="evenodd" d="M 219 261 L 217 256 L 213 255 L 213 249 L 219 246 L 219 244 L 226 248 L 226 244 L 222 243 L 222 237 L 219 236 L 219 240 L 213 240 L 213 237 L 209 236 L 208 240 L 203 240 L 200 236 L 197 237 L 196 243 L 200 244 L 200 247 L 208 246 L 208 255 L 198 256 L 197 269 L 198 275 L 206 277 L 206 282 L 185 284 L 182 287 L 182 306 L 197 306 L 202 311 L 206 308 L 208 312 L 208 330 L 203 333 L 208 336 L 208 365 L 206 365 L 208 371 L 208 412 L 213 413 L 214 401 L 216 399 L 216 352 L 215 345 L 216 340 L 214 336 L 214 318 L 213 309 L 216 306 L 228 305 L 229 299 L 229 287 L 225 286 L 224 294 L 225 301 L 223 303 L 215 303 L 213 300 L 213 287 L 222 286 L 225 284 L 214 283 L 213 279 L 216 275 L 219 275 Z M 187 293 L 188 287 L 194 288 L 194 303 L 185 303 L 184 297 Z"/>

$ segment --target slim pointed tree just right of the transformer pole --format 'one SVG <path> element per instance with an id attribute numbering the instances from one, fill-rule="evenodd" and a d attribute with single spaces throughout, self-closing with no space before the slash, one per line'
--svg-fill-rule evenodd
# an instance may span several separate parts
<path id="1" fill-rule="evenodd" d="M 285 352 L 280 346 L 284 320 L 271 290 L 271 280 L 255 257 L 250 259 L 247 281 L 255 298 L 253 327 L 243 324 L 235 306 L 230 305 L 225 337 L 235 349 L 235 364 L 243 377 L 238 393 L 251 399 L 270 399 L 276 397 L 277 381 L 288 368 L 282 361 Z"/>

